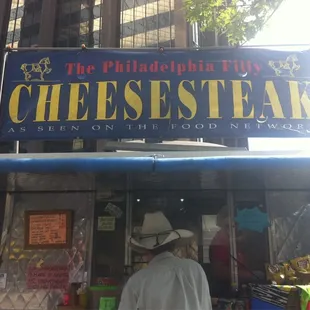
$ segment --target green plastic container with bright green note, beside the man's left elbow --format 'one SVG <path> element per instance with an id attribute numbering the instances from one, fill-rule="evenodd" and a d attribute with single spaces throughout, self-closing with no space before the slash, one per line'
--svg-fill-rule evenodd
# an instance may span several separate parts
<path id="1" fill-rule="evenodd" d="M 91 286 L 88 306 L 94 310 L 117 310 L 120 294 L 118 286 Z"/>

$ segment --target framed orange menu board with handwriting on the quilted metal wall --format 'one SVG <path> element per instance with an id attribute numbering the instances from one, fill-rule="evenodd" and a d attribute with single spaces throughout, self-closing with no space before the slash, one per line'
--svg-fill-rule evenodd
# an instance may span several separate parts
<path id="1" fill-rule="evenodd" d="M 25 248 L 71 247 L 70 211 L 26 211 Z"/>

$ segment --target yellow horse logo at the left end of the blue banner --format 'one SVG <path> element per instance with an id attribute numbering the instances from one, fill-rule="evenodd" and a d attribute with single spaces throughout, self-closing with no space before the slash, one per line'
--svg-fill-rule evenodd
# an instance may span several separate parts
<path id="1" fill-rule="evenodd" d="M 20 69 L 23 71 L 25 76 L 25 81 L 44 81 L 45 74 L 52 72 L 52 69 L 49 67 L 51 61 L 49 57 L 42 58 L 37 63 L 32 64 L 22 64 Z"/>

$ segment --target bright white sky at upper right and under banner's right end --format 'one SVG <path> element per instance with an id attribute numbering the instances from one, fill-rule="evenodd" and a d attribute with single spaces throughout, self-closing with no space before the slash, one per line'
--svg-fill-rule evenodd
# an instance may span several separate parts
<path id="1" fill-rule="evenodd" d="M 286 50 L 310 48 L 309 12 L 310 0 L 284 0 L 264 29 L 246 45 L 290 45 L 281 47 Z M 306 44 L 309 46 L 300 46 Z M 278 46 L 277 49 L 279 49 Z M 310 139 L 251 138 L 249 149 L 253 151 L 310 150 Z"/>

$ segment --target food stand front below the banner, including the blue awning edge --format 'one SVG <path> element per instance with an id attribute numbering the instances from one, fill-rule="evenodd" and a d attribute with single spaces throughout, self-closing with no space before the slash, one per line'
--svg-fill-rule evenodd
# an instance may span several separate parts
<path id="1" fill-rule="evenodd" d="M 89 287 L 113 279 L 122 287 L 131 272 L 144 267 L 143 257 L 128 248 L 126 237 L 138 231 L 144 213 L 151 210 L 162 210 L 174 227 L 195 232 L 194 240 L 176 255 L 203 266 L 213 297 L 240 296 L 241 251 L 246 257 L 242 269 L 253 275 L 248 282 L 267 284 L 266 263 L 309 253 L 310 169 L 304 167 L 310 157 L 236 153 L 2 156 L 1 172 L 14 172 L 9 174 L 0 308 L 57 309 L 68 283 L 85 282 Z M 113 167 L 113 162 L 118 165 Z M 209 248 L 221 229 L 216 218 L 225 206 L 231 290 L 221 296 Z M 242 214 L 244 210 L 248 212 Z M 41 237 L 42 231 L 31 228 L 37 225 L 33 227 L 40 230 L 42 217 L 52 221 L 54 211 L 72 212 L 66 235 L 70 245 L 64 248 L 52 244 L 52 226 L 50 235 L 46 230 Z M 33 218 L 29 225 L 33 215 L 39 216 L 37 224 Z M 242 232 L 245 243 L 237 237 Z M 257 281 L 255 276 L 261 274 Z"/>

